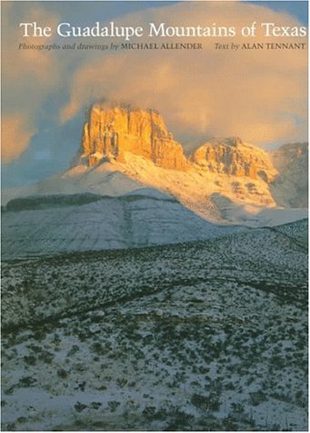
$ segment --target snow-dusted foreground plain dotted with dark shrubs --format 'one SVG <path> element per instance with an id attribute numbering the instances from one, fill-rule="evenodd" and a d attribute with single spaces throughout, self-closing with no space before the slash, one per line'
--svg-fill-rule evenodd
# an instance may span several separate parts
<path id="1" fill-rule="evenodd" d="M 307 430 L 305 228 L 3 263 L 3 430 Z"/>

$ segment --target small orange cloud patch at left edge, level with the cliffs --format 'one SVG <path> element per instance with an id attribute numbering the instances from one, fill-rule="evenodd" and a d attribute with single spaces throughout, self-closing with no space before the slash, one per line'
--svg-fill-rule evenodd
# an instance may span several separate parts
<path id="1" fill-rule="evenodd" d="M 1 125 L 2 159 L 4 162 L 15 160 L 26 149 L 35 134 L 23 116 L 4 116 Z"/>

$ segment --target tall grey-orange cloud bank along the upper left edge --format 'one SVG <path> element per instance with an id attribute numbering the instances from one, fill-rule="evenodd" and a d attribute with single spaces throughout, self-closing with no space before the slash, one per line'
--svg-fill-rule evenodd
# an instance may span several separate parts
<path id="1" fill-rule="evenodd" d="M 30 4 L 3 5 L 3 63 L 2 108 L 3 144 L 5 162 L 17 158 L 27 147 L 38 129 L 40 112 L 45 98 L 53 94 L 61 65 L 56 57 L 45 51 L 18 49 L 20 43 L 43 45 L 46 37 L 21 37 L 19 23 L 36 21 L 43 26 L 53 26 L 58 15 L 46 16 L 41 7 Z"/>

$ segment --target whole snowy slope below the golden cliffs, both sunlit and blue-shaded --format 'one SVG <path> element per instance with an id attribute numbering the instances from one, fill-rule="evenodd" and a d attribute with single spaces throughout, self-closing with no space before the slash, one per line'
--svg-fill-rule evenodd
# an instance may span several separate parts
<path id="1" fill-rule="evenodd" d="M 80 165 L 23 190 L 4 190 L 3 203 L 15 197 L 92 192 L 121 196 L 147 189 L 174 196 L 185 208 L 208 222 L 248 227 L 277 225 L 307 216 L 306 209 L 276 206 L 268 184 L 193 166 L 186 171 L 167 170 L 131 152 L 124 162 L 104 162 L 95 168 Z"/>

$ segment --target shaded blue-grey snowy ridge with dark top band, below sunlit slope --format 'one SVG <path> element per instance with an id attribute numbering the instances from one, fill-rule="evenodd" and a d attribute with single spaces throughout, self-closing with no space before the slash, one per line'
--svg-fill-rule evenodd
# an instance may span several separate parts
<path id="1" fill-rule="evenodd" d="M 160 191 L 120 197 L 35 196 L 7 205 L 3 258 L 188 242 L 223 236 L 237 227 L 206 222 Z"/>

